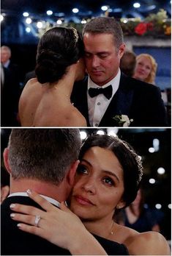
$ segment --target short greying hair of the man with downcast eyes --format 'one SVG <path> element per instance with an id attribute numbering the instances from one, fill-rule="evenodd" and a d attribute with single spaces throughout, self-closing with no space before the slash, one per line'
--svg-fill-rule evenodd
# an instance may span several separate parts
<path id="1" fill-rule="evenodd" d="M 98 17 L 93 18 L 83 28 L 83 35 L 91 34 L 111 34 L 116 47 L 119 49 L 121 43 L 124 43 L 123 32 L 121 26 L 115 18 Z"/>

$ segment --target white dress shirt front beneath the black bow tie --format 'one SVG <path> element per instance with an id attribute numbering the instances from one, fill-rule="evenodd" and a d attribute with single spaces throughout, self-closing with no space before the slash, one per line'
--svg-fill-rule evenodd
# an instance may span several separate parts
<path id="1" fill-rule="evenodd" d="M 111 99 L 113 98 L 116 90 L 119 88 L 119 80 L 121 77 L 121 71 L 119 69 L 118 74 L 110 82 L 105 85 L 102 85 L 101 88 L 106 88 L 109 85 L 112 85 L 113 91 Z M 87 102 L 89 107 L 89 123 L 91 127 L 98 127 L 102 116 L 105 114 L 105 111 L 108 108 L 108 105 L 111 102 L 111 99 L 107 99 L 102 93 L 91 98 L 89 96 L 89 88 L 99 88 L 99 85 L 96 85 L 91 78 L 88 79 L 88 90 L 87 90 Z"/>

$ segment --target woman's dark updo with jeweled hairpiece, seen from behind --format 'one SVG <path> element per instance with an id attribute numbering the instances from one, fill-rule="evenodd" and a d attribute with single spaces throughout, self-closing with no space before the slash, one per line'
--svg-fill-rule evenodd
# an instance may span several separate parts
<path id="1" fill-rule="evenodd" d="M 67 73 L 67 67 L 83 56 L 83 49 L 77 31 L 64 27 L 49 29 L 37 47 L 35 73 L 38 82 L 57 82 Z"/>

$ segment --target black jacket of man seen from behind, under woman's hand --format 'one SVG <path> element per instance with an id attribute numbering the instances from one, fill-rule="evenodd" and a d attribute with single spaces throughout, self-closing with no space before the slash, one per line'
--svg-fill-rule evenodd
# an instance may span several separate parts
<path id="1" fill-rule="evenodd" d="M 37 235 L 19 230 L 17 222 L 10 218 L 10 213 L 12 213 L 10 204 L 12 203 L 40 207 L 27 196 L 11 196 L 4 200 L 1 205 L 1 255 L 71 255 L 66 249 L 62 249 Z M 128 255 L 123 244 L 96 235 L 95 238 L 108 255 Z"/>

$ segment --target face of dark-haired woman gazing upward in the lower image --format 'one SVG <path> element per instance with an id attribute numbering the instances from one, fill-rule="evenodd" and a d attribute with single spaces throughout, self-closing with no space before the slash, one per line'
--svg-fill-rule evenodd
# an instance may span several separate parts
<path id="1" fill-rule="evenodd" d="M 123 169 L 117 157 L 99 146 L 89 149 L 78 167 L 70 209 L 82 219 L 112 218 L 116 205 L 124 205 L 123 193 Z"/>

